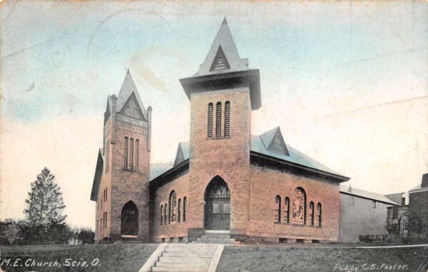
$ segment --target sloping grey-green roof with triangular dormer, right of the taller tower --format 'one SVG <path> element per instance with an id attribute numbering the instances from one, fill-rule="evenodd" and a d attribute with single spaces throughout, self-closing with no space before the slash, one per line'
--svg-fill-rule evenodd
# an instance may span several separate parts
<path id="1" fill-rule="evenodd" d="M 275 150 L 272 150 L 272 148 L 269 148 L 272 146 L 272 141 L 275 139 L 275 136 L 276 137 L 280 136 L 280 139 L 282 140 L 282 143 L 285 146 L 285 150 L 287 150 L 286 153 L 277 152 Z M 296 150 L 290 145 L 285 145 L 285 142 L 283 142 L 283 137 L 280 131 L 280 127 L 275 127 L 273 130 L 269 130 L 263 133 L 262 135 L 251 136 L 250 149 L 252 152 L 258 152 L 260 154 L 267 155 L 269 157 L 282 159 L 286 162 L 292 162 L 294 164 L 302 165 L 303 167 L 310 167 L 311 169 L 317 169 L 323 172 L 342 176 L 342 174 L 333 171 L 332 169 L 326 167 L 320 162 L 317 162 L 315 159 L 308 157 L 307 155 L 303 154 L 299 150 Z"/>

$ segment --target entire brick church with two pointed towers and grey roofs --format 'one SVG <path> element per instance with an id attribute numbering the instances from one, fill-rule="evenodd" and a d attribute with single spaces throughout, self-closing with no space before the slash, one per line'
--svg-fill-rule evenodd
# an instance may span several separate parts
<path id="1" fill-rule="evenodd" d="M 349 178 L 287 145 L 279 127 L 250 135 L 259 70 L 240 58 L 225 19 L 198 72 L 180 83 L 190 142 L 157 175 L 152 109 L 129 71 L 108 96 L 91 192 L 96 241 L 194 241 L 213 230 L 243 241 L 338 241 L 340 183 Z"/>

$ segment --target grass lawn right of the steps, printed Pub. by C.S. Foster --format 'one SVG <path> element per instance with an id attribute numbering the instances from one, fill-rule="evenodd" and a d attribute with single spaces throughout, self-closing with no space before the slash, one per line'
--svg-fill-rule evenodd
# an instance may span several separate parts
<path id="1" fill-rule="evenodd" d="M 394 268 L 395 264 L 397 266 Z M 399 269 L 399 265 L 407 267 Z M 425 268 L 421 270 L 420 266 Z M 217 271 L 356 271 L 355 267 L 358 267 L 357 271 L 426 272 L 428 247 L 352 249 L 340 246 L 225 246 Z"/>

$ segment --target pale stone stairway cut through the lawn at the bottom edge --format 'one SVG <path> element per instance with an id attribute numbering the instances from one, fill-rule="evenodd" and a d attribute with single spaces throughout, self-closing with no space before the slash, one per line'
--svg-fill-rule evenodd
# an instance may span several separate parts
<path id="1" fill-rule="evenodd" d="M 168 244 L 151 271 L 215 271 L 224 245 Z"/>

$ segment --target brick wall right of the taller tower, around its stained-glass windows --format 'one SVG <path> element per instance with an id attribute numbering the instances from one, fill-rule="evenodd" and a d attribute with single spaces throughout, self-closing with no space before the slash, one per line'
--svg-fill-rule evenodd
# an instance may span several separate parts
<path id="1" fill-rule="evenodd" d="M 305 225 L 292 224 L 293 197 L 295 189 L 302 187 L 306 192 L 306 222 Z M 245 192 L 242 192 L 245 194 Z M 280 172 L 266 167 L 251 167 L 250 185 L 250 216 L 248 236 L 264 237 L 278 241 L 279 238 L 307 239 L 320 241 L 337 241 L 340 193 L 338 184 L 321 182 L 315 179 L 299 177 L 294 174 Z M 281 222 L 275 224 L 275 197 L 281 197 Z M 290 199 L 290 223 L 284 222 L 285 197 Z M 309 226 L 310 202 L 315 204 L 315 224 Z M 317 226 L 317 203 L 322 204 L 322 224 Z"/>

